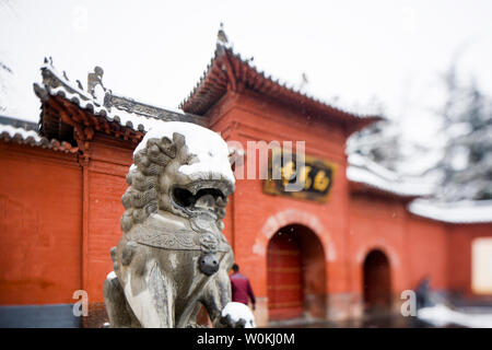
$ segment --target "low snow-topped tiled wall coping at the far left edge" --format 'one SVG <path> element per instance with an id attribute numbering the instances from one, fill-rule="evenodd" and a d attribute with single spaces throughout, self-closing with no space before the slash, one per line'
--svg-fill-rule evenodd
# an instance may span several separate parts
<path id="1" fill-rule="evenodd" d="M 24 128 L 13 127 L 11 125 L 0 124 L 0 140 L 16 142 L 20 144 L 30 144 L 33 147 L 40 147 L 45 149 L 54 149 L 55 151 L 77 152 L 78 148 L 72 147 L 68 142 L 60 142 L 58 140 L 48 140 L 40 137 L 34 130 L 26 130 Z"/>

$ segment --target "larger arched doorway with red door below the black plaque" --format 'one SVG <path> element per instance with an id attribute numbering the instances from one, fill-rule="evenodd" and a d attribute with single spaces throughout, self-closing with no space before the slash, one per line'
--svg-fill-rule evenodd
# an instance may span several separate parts
<path id="1" fill-rule="evenodd" d="M 268 243 L 270 320 L 326 316 L 326 262 L 321 242 L 308 228 L 280 229 Z"/>

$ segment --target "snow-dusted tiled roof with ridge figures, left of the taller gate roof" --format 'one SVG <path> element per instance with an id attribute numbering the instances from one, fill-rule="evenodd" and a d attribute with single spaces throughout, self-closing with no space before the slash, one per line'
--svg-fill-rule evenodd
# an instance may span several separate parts
<path id="1" fill-rule="evenodd" d="M 63 113 L 84 127 L 91 126 L 96 131 L 134 142 L 152 127 L 165 121 L 187 121 L 201 126 L 206 122 L 199 116 L 168 110 L 109 92 L 106 92 L 102 101 L 103 97 L 96 98 L 83 91 L 81 86 L 69 81 L 65 73 L 58 73 L 51 65 L 45 63 L 40 70 L 43 83 L 34 83 L 34 92 L 42 101 L 42 136 L 71 138 L 69 133 L 72 130 L 67 126 L 68 120 L 60 122 Z"/>

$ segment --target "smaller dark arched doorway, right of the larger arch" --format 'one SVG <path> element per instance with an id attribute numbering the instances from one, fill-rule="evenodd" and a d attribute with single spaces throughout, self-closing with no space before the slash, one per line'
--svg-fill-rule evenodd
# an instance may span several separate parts
<path id="1" fill-rule="evenodd" d="M 388 313 L 391 306 L 389 260 L 382 250 L 371 250 L 364 260 L 364 311 Z"/>

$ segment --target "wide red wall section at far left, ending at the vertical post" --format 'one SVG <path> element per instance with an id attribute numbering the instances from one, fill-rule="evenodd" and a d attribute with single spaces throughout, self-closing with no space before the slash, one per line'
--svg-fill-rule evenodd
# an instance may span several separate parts
<path id="1" fill-rule="evenodd" d="M 81 287 L 77 156 L 0 143 L 0 304 L 73 303 Z"/>

